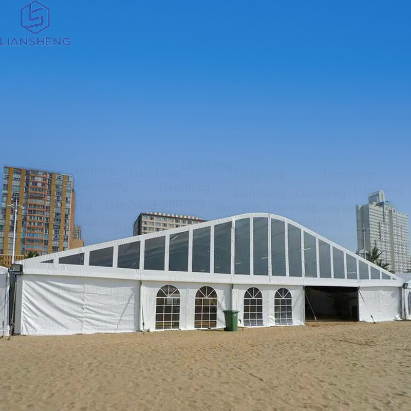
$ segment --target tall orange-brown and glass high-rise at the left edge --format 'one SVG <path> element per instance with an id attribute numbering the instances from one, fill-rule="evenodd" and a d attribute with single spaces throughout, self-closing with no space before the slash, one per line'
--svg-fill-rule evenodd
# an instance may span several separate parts
<path id="1" fill-rule="evenodd" d="M 4 265 L 10 263 L 13 248 L 14 212 L 8 206 L 16 201 L 16 259 L 30 251 L 42 255 L 81 245 L 75 241 L 73 177 L 6 166 L 0 209 L 0 257 Z"/>

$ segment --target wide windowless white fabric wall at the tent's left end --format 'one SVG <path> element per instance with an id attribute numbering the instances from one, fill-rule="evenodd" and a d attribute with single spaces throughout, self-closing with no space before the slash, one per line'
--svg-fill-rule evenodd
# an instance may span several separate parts
<path id="1" fill-rule="evenodd" d="M 132 332 L 138 329 L 138 282 L 24 275 L 18 329 L 27 335 Z"/>

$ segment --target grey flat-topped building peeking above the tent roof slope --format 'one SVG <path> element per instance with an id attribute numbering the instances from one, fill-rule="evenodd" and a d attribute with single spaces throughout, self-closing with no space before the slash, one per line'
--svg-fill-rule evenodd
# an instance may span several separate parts
<path id="1" fill-rule="evenodd" d="M 206 220 L 188 215 L 141 213 L 134 223 L 133 235 L 170 230 L 204 221 Z"/>

